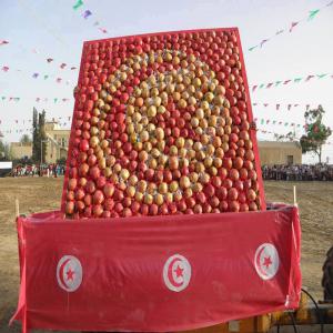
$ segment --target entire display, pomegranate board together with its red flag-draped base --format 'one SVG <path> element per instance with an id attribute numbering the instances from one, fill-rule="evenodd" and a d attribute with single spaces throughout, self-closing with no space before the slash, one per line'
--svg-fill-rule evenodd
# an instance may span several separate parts
<path id="1" fill-rule="evenodd" d="M 17 220 L 22 331 L 297 307 L 299 211 L 265 210 L 251 121 L 236 29 L 85 42 L 61 211 Z"/>

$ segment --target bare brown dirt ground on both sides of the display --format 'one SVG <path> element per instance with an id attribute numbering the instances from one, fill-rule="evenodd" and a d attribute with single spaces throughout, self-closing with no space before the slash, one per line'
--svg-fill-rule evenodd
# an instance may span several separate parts
<path id="1" fill-rule="evenodd" d="M 265 182 L 266 200 L 291 203 L 293 184 L 297 185 L 302 222 L 303 285 L 319 300 L 322 264 L 333 244 L 333 182 Z M 19 199 L 20 213 L 54 210 L 60 205 L 61 186 L 61 178 L 0 179 L 0 332 L 19 332 L 17 324 L 7 326 L 19 292 L 14 199 Z"/>

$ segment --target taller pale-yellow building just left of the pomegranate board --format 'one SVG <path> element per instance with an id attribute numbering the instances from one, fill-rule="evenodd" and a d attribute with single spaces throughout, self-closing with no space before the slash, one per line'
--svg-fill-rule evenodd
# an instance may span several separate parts
<path id="1" fill-rule="evenodd" d="M 60 159 L 67 159 L 70 130 L 60 128 L 57 121 L 48 121 L 44 125 L 47 142 L 46 162 L 56 163 Z"/>

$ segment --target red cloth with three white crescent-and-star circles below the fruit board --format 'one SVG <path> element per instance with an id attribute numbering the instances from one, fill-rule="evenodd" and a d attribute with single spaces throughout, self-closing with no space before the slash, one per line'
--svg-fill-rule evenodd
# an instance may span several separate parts
<path id="1" fill-rule="evenodd" d="M 139 222 L 140 220 L 140 222 Z M 27 329 L 190 330 L 297 306 L 297 209 L 18 219 Z"/>

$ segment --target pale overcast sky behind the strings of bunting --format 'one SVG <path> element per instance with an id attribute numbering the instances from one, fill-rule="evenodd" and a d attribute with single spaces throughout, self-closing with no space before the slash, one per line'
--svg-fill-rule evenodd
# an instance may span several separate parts
<path id="1" fill-rule="evenodd" d="M 330 0 L 83 0 L 84 4 L 74 11 L 75 2 L 1 0 L 0 41 L 7 40 L 9 44 L 0 46 L 0 131 L 8 142 L 18 141 L 22 135 L 20 130 L 30 127 L 33 107 L 44 108 L 49 119 L 68 119 L 72 114 L 78 70 L 70 68 L 79 67 L 84 40 L 214 27 L 239 27 L 250 88 L 309 74 L 327 74 L 323 79 L 251 92 L 252 103 L 258 103 L 253 111 L 259 129 L 285 134 L 292 128 L 279 125 L 280 121 L 303 125 L 305 104 L 319 103 L 326 111 L 325 122 L 333 128 L 333 6 L 326 7 Z M 321 9 L 317 16 L 306 21 L 309 12 L 315 9 Z M 92 13 L 88 19 L 82 17 L 84 10 Z M 94 26 L 97 21 L 99 26 Z M 297 21 L 300 23 L 289 32 L 291 23 Z M 99 28 L 107 29 L 108 34 Z M 279 30 L 285 31 L 274 37 Z M 273 38 L 262 48 L 248 50 L 270 37 Z M 48 63 L 47 58 L 54 61 Z M 61 63 L 67 67 L 61 69 Z M 9 70 L 2 71 L 3 67 Z M 33 79 L 33 73 L 39 77 Z M 48 79 L 44 80 L 44 75 L 49 75 Z M 56 82 L 57 78 L 62 78 L 61 83 Z M 19 97 L 20 101 L 9 101 L 10 97 Z M 37 102 L 37 98 L 41 101 Z M 44 98 L 48 101 L 44 102 Z M 54 98 L 58 98 L 57 103 Z M 69 101 L 62 102 L 62 99 Z M 276 103 L 281 104 L 279 111 Z M 287 111 L 287 104 L 300 107 Z M 261 119 L 270 123 L 263 125 Z M 276 124 L 272 124 L 273 120 Z M 7 133 L 9 130 L 11 133 Z M 296 134 L 301 137 L 302 128 L 296 128 Z M 260 131 L 258 137 L 273 138 Z M 329 157 L 332 163 L 333 138 L 330 141 L 324 160 Z M 304 161 L 313 159 L 306 157 Z"/>

